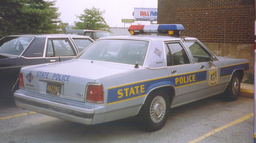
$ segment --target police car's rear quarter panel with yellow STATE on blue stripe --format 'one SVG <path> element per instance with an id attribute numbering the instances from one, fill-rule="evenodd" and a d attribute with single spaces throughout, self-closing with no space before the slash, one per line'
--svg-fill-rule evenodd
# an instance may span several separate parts
<path id="1" fill-rule="evenodd" d="M 106 114 L 103 122 L 136 115 L 151 89 L 173 84 L 167 78 L 163 80 L 162 77 L 167 76 L 166 68 L 150 70 L 146 67 L 108 76 L 108 87 L 104 87 Z"/>

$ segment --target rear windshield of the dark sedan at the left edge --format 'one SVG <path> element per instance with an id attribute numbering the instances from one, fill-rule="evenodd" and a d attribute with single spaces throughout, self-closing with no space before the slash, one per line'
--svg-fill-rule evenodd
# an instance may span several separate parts
<path id="1" fill-rule="evenodd" d="M 0 40 L 0 53 L 19 56 L 33 38 L 7 36 Z"/>

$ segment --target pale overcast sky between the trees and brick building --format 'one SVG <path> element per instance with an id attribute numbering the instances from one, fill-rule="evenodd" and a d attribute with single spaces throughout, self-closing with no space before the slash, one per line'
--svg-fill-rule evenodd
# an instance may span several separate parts
<path id="1" fill-rule="evenodd" d="M 78 21 L 75 14 L 81 14 L 85 8 L 92 8 L 92 6 L 106 10 L 103 17 L 110 27 L 123 27 L 124 23 L 121 19 L 133 19 L 134 7 L 157 8 L 157 0 L 56 0 L 55 5 L 61 12 L 60 19 L 68 22 L 69 25 L 72 23 L 74 25 L 74 21 Z M 135 21 L 134 24 L 136 23 L 150 24 L 150 22 Z M 125 27 L 128 26 L 130 24 L 126 23 Z"/>

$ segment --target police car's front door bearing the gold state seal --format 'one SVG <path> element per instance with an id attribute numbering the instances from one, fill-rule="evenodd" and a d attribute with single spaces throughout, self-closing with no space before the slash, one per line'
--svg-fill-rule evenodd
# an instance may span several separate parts
<path id="1" fill-rule="evenodd" d="M 220 78 L 220 67 L 222 62 L 215 59 L 209 62 L 209 56 L 214 56 L 206 47 L 198 41 L 185 41 L 191 52 L 191 58 L 199 71 L 206 71 L 206 80 L 199 85 L 201 97 L 210 96 L 225 89 L 224 78 Z"/>

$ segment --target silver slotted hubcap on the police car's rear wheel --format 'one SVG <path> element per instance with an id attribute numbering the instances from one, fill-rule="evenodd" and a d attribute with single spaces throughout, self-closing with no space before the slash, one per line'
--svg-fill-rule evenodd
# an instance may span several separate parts
<path id="1" fill-rule="evenodd" d="M 163 120 L 166 111 L 165 100 L 161 96 L 153 99 L 150 105 L 150 118 L 154 123 L 159 123 Z"/>

